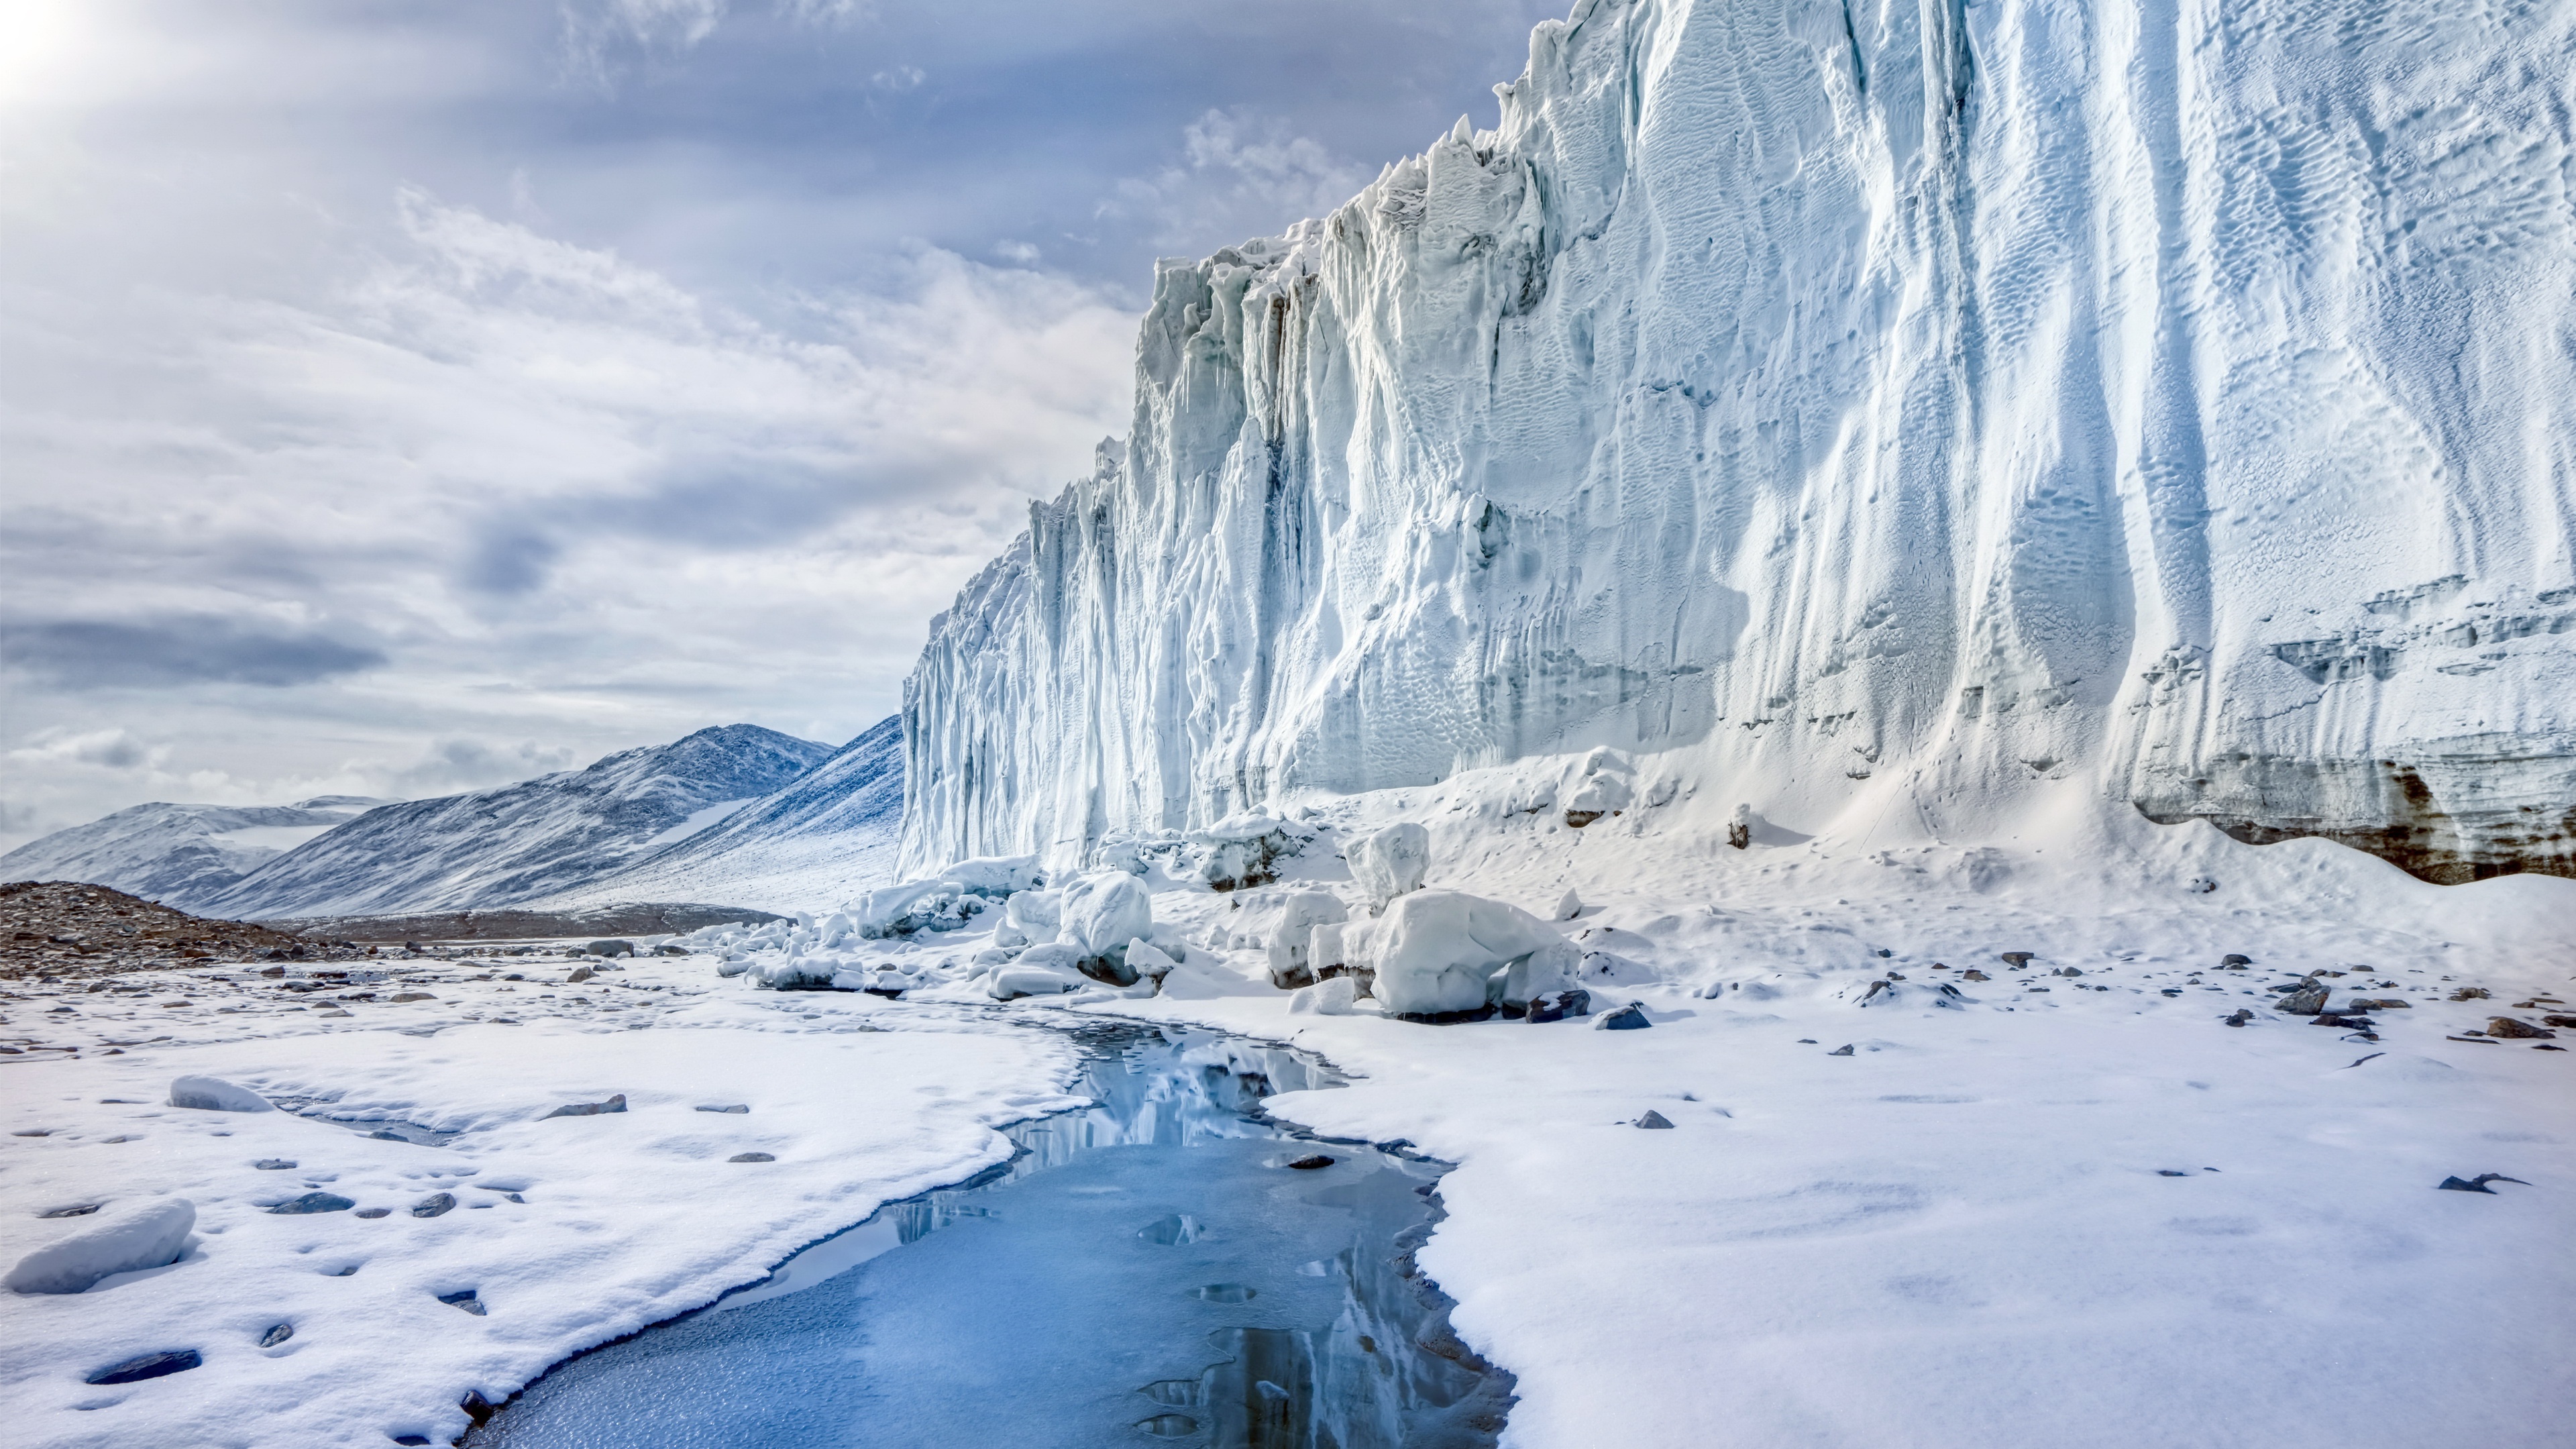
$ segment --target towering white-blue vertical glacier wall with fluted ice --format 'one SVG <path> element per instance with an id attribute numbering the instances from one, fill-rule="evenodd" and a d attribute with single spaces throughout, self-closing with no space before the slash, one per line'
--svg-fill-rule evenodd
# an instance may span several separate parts
<path id="1" fill-rule="evenodd" d="M 2566 3 L 1587 0 L 1162 263 L 907 686 L 904 869 L 1618 745 L 2576 874 L 2571 77 Z"/>

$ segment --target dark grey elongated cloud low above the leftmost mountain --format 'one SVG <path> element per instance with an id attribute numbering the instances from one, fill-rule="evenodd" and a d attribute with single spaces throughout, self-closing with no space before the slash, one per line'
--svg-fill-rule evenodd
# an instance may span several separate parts
<path id="1" fill-rule="evenodd" d="M 376 668 L 386 655 L 314 629 L 222 616 L 149 621 L 57 619 L 0 624 L 0 663 L 62 688 L 173 683 L 314 683 Z"/>

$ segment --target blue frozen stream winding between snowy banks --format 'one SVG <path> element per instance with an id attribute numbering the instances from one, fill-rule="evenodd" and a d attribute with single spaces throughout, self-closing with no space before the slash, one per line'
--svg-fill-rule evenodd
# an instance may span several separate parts
<path id="1" fill-rule="evenodd" d="M 1273 1091 L 1337 1085 L 1311 1057 L 1074 1031 L 1097 1106 L 1010 1127 L 1007 1165 L 556 1366 L 466 1444 L 1494 1444 L 1510 1374 L 1412 1274 L 1443 1168 L 1270 1124 Z M 1288 1165 L 1309 1155 L 1334 1160 Z"/>

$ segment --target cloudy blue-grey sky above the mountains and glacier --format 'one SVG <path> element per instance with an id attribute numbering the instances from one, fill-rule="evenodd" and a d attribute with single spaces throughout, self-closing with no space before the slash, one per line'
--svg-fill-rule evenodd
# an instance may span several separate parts
<path id="1" fill-rule="evenodd" d="M 0 848 L 891 714 L 1128 431 L 1159 255 L 1528 0 L 10 0 Z"/>

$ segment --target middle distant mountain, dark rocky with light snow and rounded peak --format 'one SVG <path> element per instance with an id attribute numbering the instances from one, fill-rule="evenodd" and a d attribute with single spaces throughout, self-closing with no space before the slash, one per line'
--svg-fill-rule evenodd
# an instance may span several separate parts
<path id="1" fill-rule="evenodd" d="M 520 905 L 708 830 L 829 755 L 814 740 L 721 724 L 585 771 L 389 804 L 268 861 L 201 910 L 265 920 Z"/>

